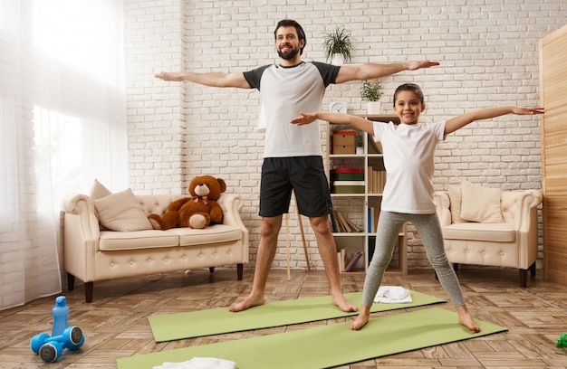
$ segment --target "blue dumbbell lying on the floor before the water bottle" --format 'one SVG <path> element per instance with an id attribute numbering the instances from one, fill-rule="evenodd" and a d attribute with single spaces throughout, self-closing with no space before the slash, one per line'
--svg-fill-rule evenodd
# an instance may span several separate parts
<path id="1" fill-rule="evenodd" d="M 41 333 L 32 338 L 30 345 L 35 354 L 39 354 L 45 363 L 53 363 L 62 355 L 63 348 L 74 351 L 84 343 L 82 330 L 78 326 L 65 328 L 61 336 L 50 337 Z"/>

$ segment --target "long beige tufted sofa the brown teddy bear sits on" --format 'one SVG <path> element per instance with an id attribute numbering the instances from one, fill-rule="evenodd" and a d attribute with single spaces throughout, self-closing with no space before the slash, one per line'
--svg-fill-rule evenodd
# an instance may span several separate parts
<path id="1" fill-rule="evenodd" d="M 165 213 L 182 195 L 136 195 L 146 213 Z M 94 201 L 71 194 L 62 201 L 63 262 L 68 288 L 74 279 L 85 283 L 85 300 L 92 301 L 93 282 L 136 275 L 236 265 L 243 278 L 248 262 L 248 230 L 240 219 L 243 202 L 237 194 L 222 194 L 223 224 L 204 230 L 101 231 Z"/>

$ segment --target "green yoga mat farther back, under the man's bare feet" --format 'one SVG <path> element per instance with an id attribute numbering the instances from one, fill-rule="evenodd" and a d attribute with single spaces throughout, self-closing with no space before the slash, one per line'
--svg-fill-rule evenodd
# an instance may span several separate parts
<path id="1" fill-rule="evenodd" d="M 410 290 L 409 293 L 411 303 L 372 304 L 371 311 L 380 312 L 446 302 L 413 290 Z M 361 292 L 348 293 L 344 296 L 352 304 L 360 307 Z M 165 342 L 274 326 L 289 326 L 356 314 L 342 312 L 338 307 L 332 306 L 331 296 L 323 296 L 270 302 L 238 313 L 228 311 L 228 307 L 217 307 L 186 313 L 150 316 L 148 320 L 156 342 Z"/>

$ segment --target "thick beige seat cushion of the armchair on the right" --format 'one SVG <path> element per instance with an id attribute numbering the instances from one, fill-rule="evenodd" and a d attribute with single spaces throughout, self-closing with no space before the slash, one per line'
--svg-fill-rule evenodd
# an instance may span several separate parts
<path id="1" fill-rule="evenodd" d="M 514 242 L 512 223 L 460 222 L 443 227 L 443 238 L 447 240 L 474 240 L 493 242 Z"/>

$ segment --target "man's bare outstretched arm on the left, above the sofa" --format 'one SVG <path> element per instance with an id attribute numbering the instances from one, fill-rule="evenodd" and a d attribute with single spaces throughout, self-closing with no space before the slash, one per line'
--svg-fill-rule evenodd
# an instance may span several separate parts
<path id="1" fill-rule="evenodd" d="M 236 87 L 239 89 L 250 89 L 250 85 L 242 72 L 235 73 L 191 73 L 186 71 L 160 71 L 155 74 L 160 80 L 184 81 L 211 86 L 211 87 Z"/>

